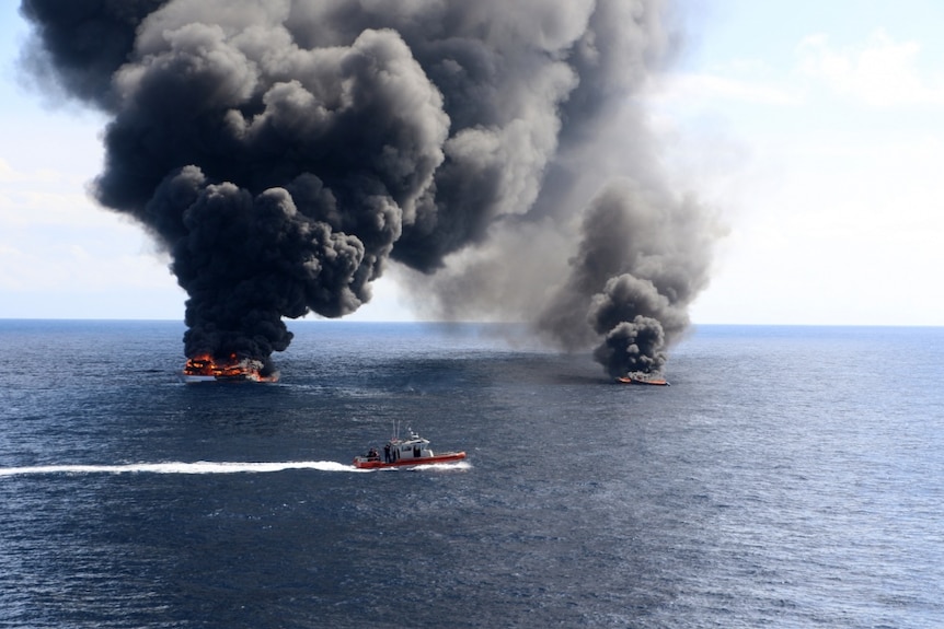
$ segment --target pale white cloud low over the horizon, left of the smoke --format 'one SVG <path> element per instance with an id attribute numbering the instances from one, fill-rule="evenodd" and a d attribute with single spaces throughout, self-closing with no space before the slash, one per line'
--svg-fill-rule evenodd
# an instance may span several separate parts
<path id="1" fill-rule="evenodd" d="M 108 293 L 182 301 L 166 256 L 141 228 L 95 203 L 84 175 L 16 168 L 0 158 L 0 316 L 44 316 L 47 307 L 105 316 L 94 304 Z M 116 316 L 138 305 L 115 301 L 108 307 L 124 308 Z"/>

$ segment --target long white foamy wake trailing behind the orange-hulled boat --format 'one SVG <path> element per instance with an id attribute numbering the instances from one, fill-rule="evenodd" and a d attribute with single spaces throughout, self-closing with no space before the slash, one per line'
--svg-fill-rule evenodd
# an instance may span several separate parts
<path id="1" fill-rule="evenodd" d="M 283 471 L 286 469 L 315 469 L 318 471 L 369 471 L 335 461 L 288 462 L 210 462 L 195 463 L 130 463 L 127 465 L 35 465 L 24 467 L 0 467 L 0 476 L 41 474 L 253 474 Z"/>

